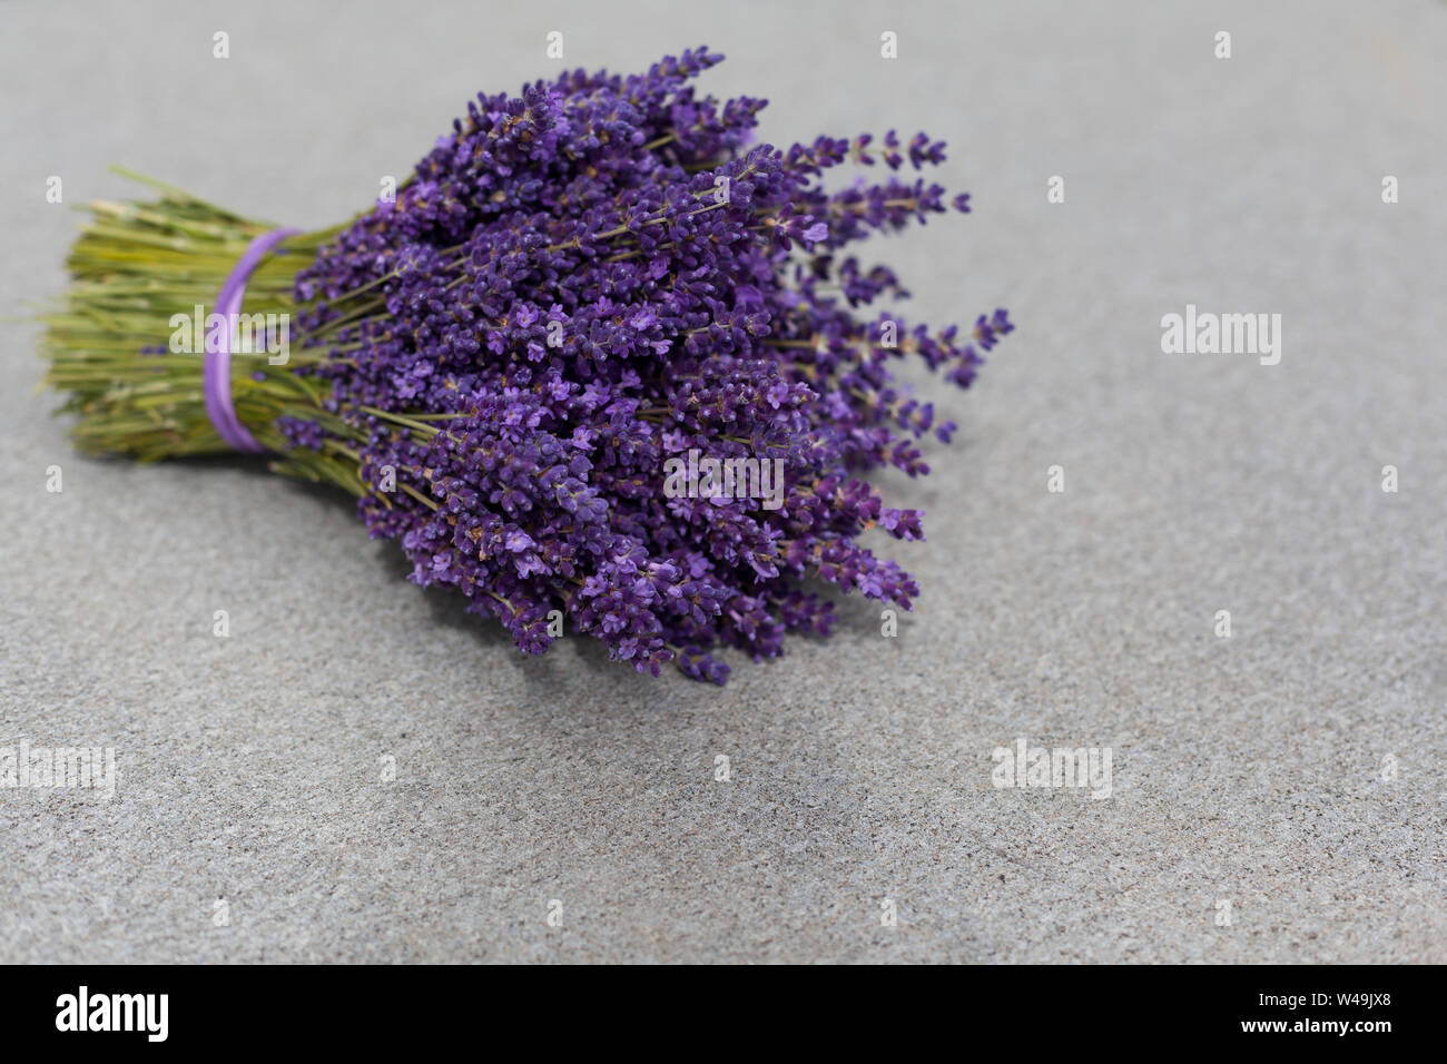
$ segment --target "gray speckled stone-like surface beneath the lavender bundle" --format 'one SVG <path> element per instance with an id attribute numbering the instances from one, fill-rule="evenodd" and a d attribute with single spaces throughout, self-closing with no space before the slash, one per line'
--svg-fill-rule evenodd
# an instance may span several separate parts
<path id="1" fill-rule="evenodd" d="M 768 139 L 946 138 L 975 214 L 874 253 L 1020 330 L 887 481 L 929 512 L 899 638 L 854 609 L 719 691 L 524 659 L 246 463 L 72 455 L 6 323 L 0 746 L 120 780 L 0 790 L 0 961 L 1447 960 L 1447 6 L 298 7 L 9 9 L 0 313 L 64 284 L 48 175 L 327 224 L 560 29 L 728 52 Z M 1281 313 L 1281 365 L 1162 355 L 1187 303 Z M 1110 746 L 1114 795 L 994 789 L 1017 735 Z"/>

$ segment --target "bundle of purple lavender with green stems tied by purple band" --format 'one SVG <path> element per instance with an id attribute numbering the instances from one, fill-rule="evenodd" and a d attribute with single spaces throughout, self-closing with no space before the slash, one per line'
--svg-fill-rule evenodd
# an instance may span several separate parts
<path id="1" fill-rule="evenodd" d="M 357 497 L 412 580 L 456 588 L 528 653 L 587 633 L 640 672 L 722 683 L 721 647 L 761 660 L 790 630 L 829 634 L 818 580 L 910 608 L 915 580 L 858 537 L 923 539 L 922 514 L 862 478 L 926 473 L 917 443 L 955 426 L 890 360 L 964 388 L 1010 321 L 871 314 L 907 292 L 844 252 L 946 211 L 906 177 L 945 145 L 752 145 L 763 100 L 693 88 L 721 58 L 479 96 L 395 195 L 321 233 L 281 239 L 156 182 L 152 203 L 88 204 L 46 318 L 77 444 L 271 452 Z M 828 191 L 844 164 L 883 180 Z M 218 415 L 200 311 L 268 233 L 242 317 L 273 327 L 234 352 Z"/>

